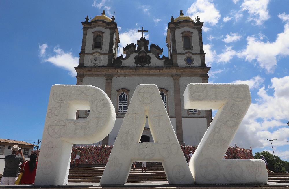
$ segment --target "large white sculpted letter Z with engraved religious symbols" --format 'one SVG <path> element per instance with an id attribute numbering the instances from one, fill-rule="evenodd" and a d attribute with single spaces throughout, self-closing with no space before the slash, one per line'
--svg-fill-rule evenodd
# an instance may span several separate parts
<path id="1" fill-rule="evenodd" d="M 222 160 L 251 104 L 248 85 L 189 84 L 185 109 L 218 109 L 189 167 L 197 184 L 266 184 L 263 160 Z"/>

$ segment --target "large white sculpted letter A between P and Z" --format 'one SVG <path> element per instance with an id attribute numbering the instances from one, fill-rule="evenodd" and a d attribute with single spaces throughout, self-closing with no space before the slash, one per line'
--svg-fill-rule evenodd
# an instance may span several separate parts
<path id="1" fill-rule="evenodd" d="M 146 115 L 155 143 L 139 143 Z M 160 161 L 170 184 L 194 184 L 156 85 L 136 87 L 100 184 L 125 184 L 133 161 Z"/>

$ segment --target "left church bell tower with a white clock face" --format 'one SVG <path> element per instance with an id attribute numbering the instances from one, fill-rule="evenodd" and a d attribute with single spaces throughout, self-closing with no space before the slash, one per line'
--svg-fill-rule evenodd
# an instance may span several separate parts
<path id="1" fill-rule="evenodd" d="M 117 56 L 119 43 L 118 29 L 114 16 L 109 18 L 105 11 L 89 21 L 88 16 L 83 26 L 79 67 L 111 66 Z"/>

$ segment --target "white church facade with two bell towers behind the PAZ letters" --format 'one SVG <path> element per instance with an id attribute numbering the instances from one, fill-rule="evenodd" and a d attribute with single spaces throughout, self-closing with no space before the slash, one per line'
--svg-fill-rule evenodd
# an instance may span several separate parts
<path id="1" fill-rule="evenodd" d="M 211 110 L 184 109 L 183 93 L 189 83 L 208 83 L 210 68 L 205 63 L 202 26 L 180 13 L 168 23 L 166 43 L 168 57 L 162 56 L 163 48 L 149 46 L 144 37 L 124 47 L 123 57 L 117 56 L 119 39 L 114 17 L 105 11 L 92 20 L 86 18 L 79 53 L 77 85 L 93 85 L 108 95 L 116 111 L 112 132 L 99 143 L 113 145 L 129 106 L 130 98 L 139 84 L 155 84 L 168 112 L 181 145 L 198 145 L 212 121 Z M 140 30 L 141 32 L 146 32 Z M 79 110 L 76 119 L 86 119 L 90 110 Z M 146 123 L 140 142 L 153 142 Z M 98 145 L 99 143 L 95 143 Z"/>

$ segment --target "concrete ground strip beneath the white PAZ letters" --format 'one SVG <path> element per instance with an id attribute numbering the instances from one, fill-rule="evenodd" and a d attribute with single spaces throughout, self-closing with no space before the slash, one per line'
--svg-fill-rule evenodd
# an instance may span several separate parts
<path id="1" fill-rule="evenodd" d="M 140 182 L 140 183 L 126 183 L 125 185 L 111 185 L 111 186 L 100 186 L 99 183 L 68 183 L 65 186 L 34 186 L 29 184 L 21 184 L 21 185 L 0 185 L 0 188 L 53 188 L 53 189 L 60 189 L 60 188 L 107 188 L 107 189 L 116 189 L 116 188 L 128 188 L 128 189 L 190 189 L 190 188 L 199 188 L 199 189 L 220 189 L 220 188 L 226 188 L 226 189 L 253 189 L 253 188 L 262 188 L 262 189 L 289 189 L 289 183 L 277 183 L 277 182 L 269 182 L 267 184 L 261 184 L 261 185 L 254 185 L 254 184 L 248 184 L 248 185 L 171 185 L 167 182 Z"/>

